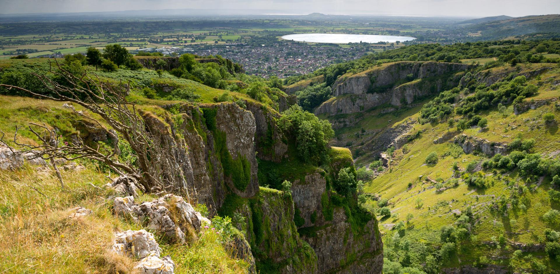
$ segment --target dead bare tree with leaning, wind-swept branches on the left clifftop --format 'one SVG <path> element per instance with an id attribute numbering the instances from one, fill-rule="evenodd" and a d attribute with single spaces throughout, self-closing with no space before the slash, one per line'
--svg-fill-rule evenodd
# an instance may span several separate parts
<path id="1" fill-rule="evenodd" d="M 89 158 L 105 163 L 116 173 L 120 175 L 126 174 L 135 178 L 141 184 L 140 187 L 144 191 L 167 190 L 176 192 L 177 188 L 183 188 L 180 191 L 186 192 L 186 195 L 189 196 L 184 177 L 181 176 L 182 174 L 178 174 L 182 173 L 182 171 L 180 169 L 179 171 L 176 170 L 176 165 L 172 166 L 169 164 L 170 158 L 172 159 L 173 157 L 172 153 L 164 149 L 159 136 L 152 134 L 147 129 L 146 123 L 141 116 L 142 112 L 137 109 L 136 105 L 127 101 L 127 88 L 123 87 L 122 84 L 114 85 L 103 82 L 97 75 L 95 75 L 95 78 L 91 78 L 86 73 L 73 75 L 60 66 L 58 62 L 55 62 L 55 69 L 50 69 L 50 72 L 59 79 L 63 79 L 66 84 L 59 84 L 46 75 L 32 73 L 48 89 L 49 95 L 35 93 L 25 88 L 7 84 L 0 84 L 0 87 L 18 89 L 38 98 L 76 103 L 86 108 L 86 110 L 99 115 L 106 124 L 116 131 L 119 137 L 122 137 L 130 144 L 130 147 L 136 153 L 137 166 L 131 163 L 119 162 L 118 157 L 116 157 L 119 154 L 116 141 L 115 147 L 109 150 L 102 150 L 99 147 L 92 148 L 83 142 L 80 144 L 65 143 L 60 145 L 57 134 L 48 125 L 31 123 L 29 126 L 29 130 L 41 140 L 41 145 L 17 143 L 17 136 L 14 136 L 15 144 L 24 147 L 28 152 L 34 153 L 33 157 L 49 159 L 52 160 L 52 163 L 55 163 L 54 159 L 57 158 L 66 160 Z M 101 127 L 107 132 L 114 132 L 113 130 L 106 129 L 101 122 L 85 115 L 82 111 L 74 110 L 74 113 L 81 116 L 83 120 L 92 122 L 96 127 Z M 73 120 L 76 121 L 75 119 Z M 82 124 L 86 125 L 83 122 Z M 44 132 L 40 133 L 33 127 L 39 127 Z M 171 162 L 174 161 L 171 160 Z M 56 165 L 54 164 L 53 166 L 56 170 Z M 64 185 L 60 175 L 59 179 L 62 185 Z M 176 182 L 178 179 L 182 180 L 182 182 Z M 172 180 L 175 180 L 175 182 L 171 182 Z"/>

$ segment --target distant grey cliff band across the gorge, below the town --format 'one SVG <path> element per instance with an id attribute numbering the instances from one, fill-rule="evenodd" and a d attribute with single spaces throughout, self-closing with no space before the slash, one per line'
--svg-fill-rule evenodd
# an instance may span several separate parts
<path id="1" fill-rule="evenodd" d="M 452 74 L 468 68 L 469 65 L 455 63 L 396 62 L 350 77 L 343 75 L 333 84 L 335 97 L 321 104 L 315 114 L 351 114 L 388 103 L 408 105 L 456 86 L 460 75 Z"/>

